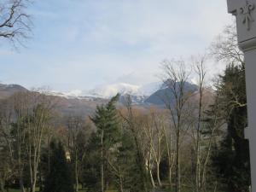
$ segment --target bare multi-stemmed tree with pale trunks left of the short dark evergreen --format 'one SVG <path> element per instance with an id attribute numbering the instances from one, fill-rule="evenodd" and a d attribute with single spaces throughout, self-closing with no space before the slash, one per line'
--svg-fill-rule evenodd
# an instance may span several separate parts
<path id="1" fill-rule="evenodd" d="M 30 172 L 30 191 L 36 191 L 38 182 L 38 165 L 41 157 L 42 143 L 50 126 L 52 119 L 53 102 L 44 94 L 32 92 L 27 94 L 29 101 L 26 106 L 25 122 L 26 129 L 26 153 L 28 158 L 28 166 Z"/>

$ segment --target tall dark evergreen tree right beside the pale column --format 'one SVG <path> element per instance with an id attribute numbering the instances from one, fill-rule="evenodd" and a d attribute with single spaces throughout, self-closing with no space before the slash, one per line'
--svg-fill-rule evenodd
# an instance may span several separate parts
<path id="1" fill-rule="evenodd" d="M 249 146 L 244 137 L 247 101 L 244 65 L 230 65 L 218 88 L 226 116 L 227 129 L 213 156 L 218 174 L 230 192 L 247 192 L 250 186 Z"/>

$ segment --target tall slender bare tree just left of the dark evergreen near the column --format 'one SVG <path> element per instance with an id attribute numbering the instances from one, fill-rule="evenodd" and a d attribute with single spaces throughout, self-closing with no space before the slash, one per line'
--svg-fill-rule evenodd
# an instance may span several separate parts
<path id="1" fill-rule="evenodd" d="M 205 62 L 205 56 L 200 56 L 193 60 L 198 80 L 198 91 L 195 94 L 196 99 L 192 101 L 194 109 L 191 125 L 193 126 L 190 133 L 194 143 L 193 150 L 195 151 L 195 158 L 192 158 L 195 162 L 192 162 L 192 165 L 195 165 L 194 186 L 196 192 L 207 190 L 207 166 L 212 153 L 212 143 L 217 137 L 216 131 L 224 125 L 220 115 L 218 89 L 213 96 L 212 90 L 207 89 L 206 86 L 207 70 Z M 217 84 L 216 86 L 218 87 L 219 85 Z M 210 109 L 213 118 L 209 120 L 209 118 L 207 119 L 207 113 L 209 113 Z M 207 132 L 207 135 L 205 132 Z"/>

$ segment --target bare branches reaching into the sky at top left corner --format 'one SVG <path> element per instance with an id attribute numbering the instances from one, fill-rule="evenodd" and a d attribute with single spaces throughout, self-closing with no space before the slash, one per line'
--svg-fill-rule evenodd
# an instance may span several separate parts
<path id="1" fill-rule="evenodd" d="M 28 0 L 3 0 L 0 3 L 0 38 L 22 44 L 31 32 L 32 21 L 26 13 Z"/>

